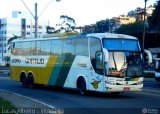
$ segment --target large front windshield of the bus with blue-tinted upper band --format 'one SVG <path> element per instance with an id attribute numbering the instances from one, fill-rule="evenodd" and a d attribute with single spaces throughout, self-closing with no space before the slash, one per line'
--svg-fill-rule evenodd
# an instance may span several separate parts
<path id="1" fill-rule="evenodd" d="M 109 51 L 107 76 L 142 76 L 142 57 L 137 40 L 105 39 L 103 46 Z"/>

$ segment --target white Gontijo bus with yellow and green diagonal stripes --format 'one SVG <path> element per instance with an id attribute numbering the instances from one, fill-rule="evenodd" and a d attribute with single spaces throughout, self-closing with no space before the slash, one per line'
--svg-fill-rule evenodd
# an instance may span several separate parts
<path id="1" fill-rule="evenodd" d="M 142 54 L 137 38 L 110 33 L 17 39 L 11 44 L 11 79 L 23 87 L 47 84 L 119 93 L 142 91 Z"/>

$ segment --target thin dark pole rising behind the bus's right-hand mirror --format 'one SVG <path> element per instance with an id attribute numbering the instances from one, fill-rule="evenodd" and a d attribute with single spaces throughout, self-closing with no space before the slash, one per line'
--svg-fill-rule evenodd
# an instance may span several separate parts
<path id="1" fill-rule="evenodd" d="M 144 0 L 145 6 L 144 6 L 144 25 L 143 25 L 143 40 L 142 40 L 142 50 L 144 51 L 144 42 L 145 42 L 145 35 L 146 35 L 146 5 L 147 0 Z"/>

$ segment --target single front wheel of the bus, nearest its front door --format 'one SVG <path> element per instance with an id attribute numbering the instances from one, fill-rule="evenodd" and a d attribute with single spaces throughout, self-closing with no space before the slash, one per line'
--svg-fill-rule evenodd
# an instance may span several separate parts
<path id="1" fill-rule="evenodd" d="M 86 81 L 83 77 L 78 78 L 77 88 L 78 88 L 81 95 L 86 94 Z"/>

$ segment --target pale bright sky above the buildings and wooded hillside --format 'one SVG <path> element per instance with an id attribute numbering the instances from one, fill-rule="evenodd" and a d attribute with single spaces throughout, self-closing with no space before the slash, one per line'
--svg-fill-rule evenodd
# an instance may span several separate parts
<path id="1" fill-rule="evenodd" d="M 23 0 L 34 15 L 34 4 L 38 4 L 39 22 L 55 25 L 60 23 L 60 15 L 67 15 L 75 19 L 76 26 L 95 24 L 106 18 L 127 15 L 137 7 L 144 8 L 144 0 Z M 147 6 L 157 0 L 148 0 Z M 43 9 L 48 7 L 42 15 Z M 0 0 L 0 18 L 11 17 L 12 11 L 24 11 L 30 15 L 21 0 Z"/>

